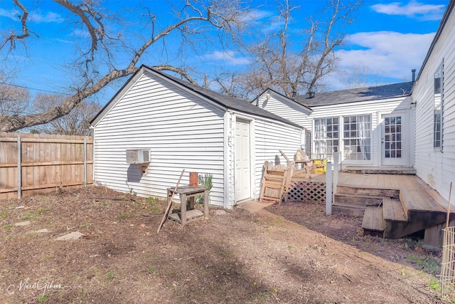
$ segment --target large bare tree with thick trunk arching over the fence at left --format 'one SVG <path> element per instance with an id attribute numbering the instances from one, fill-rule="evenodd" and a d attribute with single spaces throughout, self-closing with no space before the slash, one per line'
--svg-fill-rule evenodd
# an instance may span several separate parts
<path id="1" fill-rule="evenodd" d="M 16 51 L 18 42 L 25 44 L 31 34 L 39 37 L 39 33 L 29 28 L 30 15 L 26 6 L 21 0 L 12 1 L 22 11 L 19 20 L 21 32 L 4 34 L 4 41 L 0 42 L 0 50 L 5 53 Z M 0 117 L 0 131 L 15 131 L 41 125 L 67 115 L 82 100 L 99 92 L 109 83 L 135 73 L 139 69 L 141 58 L 146 56 L 150 48 L 154 48 L 153 51 L 156 53 L 160 50 L 166 53 L 166 36 L 171 34 L 180 34 L 181 41 L 187 43 L 193 43 L 196 41 L 196 36 L 205 37 L 206 33 L 213 30 L 218 30 L 218 38 L 221 41 L 225 36 L 235 38 L 235 32 L 241 28 L 242 16 L 247 9 L 241 0 L 186 0 L 182 7 L 175 10 L 176 21 L 160 27 L 162 23 L 157 21 L 159 17 L 164 20 L 170 18 L 166 15 L 158 16 L 151 13 L 147 7 L 141 7 L 143 23 L 135 28 L 138 31 L 144 29 L 145 33 L 141 31 L 144 33 L 142 38 L 136 36 L 132 39 L 118 30 L 126 22 L 122 16 L 115 18 L 112 12 L 105 12 L 102 6 L 97 6 L 98 1 L 82 0 L 77 4 L 68 0 L 53 1 L 68 11 L 68 26 L 82 28 L 87 33 L 87 41 L 81 41 L 79 54 L 71 65 L 71 70 L 77 71 L 79 76 L 76 84 L 71 88 L 73 93 L 66 97 L 63 103 L 40 113 Z M 31 5 L 31 1 L 27 1 L 26 4 Z M 85 35 L 80 37 L 85 38 Z M 201 39 L 203 40 L 205 39 Z M 123 57 L 116 58 L 116 52 L 129 58 L 127 61 Z M 195 83 L 183 68 L 162 62 L 154 65 L 154 68 L 171 70 Z"/>

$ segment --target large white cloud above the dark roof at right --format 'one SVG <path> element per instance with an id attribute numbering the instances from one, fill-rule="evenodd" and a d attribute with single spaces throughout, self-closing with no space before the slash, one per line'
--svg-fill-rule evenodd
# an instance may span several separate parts
<path id="1" fill-rule="evenodd" d="M 366 66 L 375 75 L 410 80 L 411 70 L 419 70 L 434 33 L 397 33 L 379 31 L 346 36 L 353 49 L 336 51 L 340 68 Z"/>

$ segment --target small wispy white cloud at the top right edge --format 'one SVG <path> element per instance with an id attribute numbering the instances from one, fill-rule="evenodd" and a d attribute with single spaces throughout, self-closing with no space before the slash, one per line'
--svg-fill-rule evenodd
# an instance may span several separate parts
<path id="1" fill-rule="evenodd" d="M 422 4 L 414 0 L 407 4 L 403 4 L 402 2 L 375 4 L 371 8 L 377 13 L 407 16 L 423 20 L 440 20 L 442 14 L 444 14 L 443 4 Z"/>

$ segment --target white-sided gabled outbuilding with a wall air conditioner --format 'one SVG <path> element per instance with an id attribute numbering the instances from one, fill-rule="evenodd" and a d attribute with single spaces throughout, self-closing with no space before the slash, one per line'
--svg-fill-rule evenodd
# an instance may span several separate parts
<path id="1" fill-rule="evenodd" d="M 305 129 L 244 100 L 142 65 L 91 122 L 94 181 L 166 197 L 188 172 L 213 174 L 210 204 L 258 198 L 264 161 L 293 155 Z M 128 158 L 127 158 L 127 150 Z"/>

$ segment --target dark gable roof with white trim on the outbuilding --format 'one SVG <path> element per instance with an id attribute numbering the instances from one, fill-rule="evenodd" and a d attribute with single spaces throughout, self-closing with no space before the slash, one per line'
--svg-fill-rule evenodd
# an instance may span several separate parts
<path id="1" fill-rule="evenodd" d="M 181 86 L 184 89 L 186 89 L 188 92 L 193 93 L 194 95 L 198 95 L 202 98 L 206 98 L 206 99 L 210 100 L 211 102 L 215 103 L 216 105 L 218 105 L 220 108 L 223 108 L 224 110 L 235 110 L 235 111 L 239 111 L 239 112 L 245 112 L 250 115 L 264 117 L 264 118 L 268 118 L 270 120 L 277 120 L 279 122 L 284 122 L 287 125 L 292 125 L 294 127 L 303 128 L 303 127 L 301 127 L 301 125 L 297 125 L 296 123 L 286 120 L 283 117 L 274 115 L 271 112 L 268 112 L 266 110 L 263 110 L 262 108 L 256 107 L 255 105 L 252 105 L 245 100 L 240 100 L 238 98 L 233 98 L 228 95 L 216 93 L 213 90 L 208 90 L 206 88 L 200 87 L 199 85 L 194 85 L 193 83 L 188 83 L 185 80 L 181 80 L 181 79 L 178 79 L 171 75 L 168 75 L 166 73 L 163 73 L 159 70 L 155 70 L 154 68 L 151 68 L 147 65 L 141 65 L 141 68 L 139 68 L 139 70 L 136 73 L 134 73 L 134 75 L 132 75 L 132 77 L 129 78 L 129 80 L 127 80 L 127 83 L 125 83 L 122 86 L 122 88 L 114 95 L 114 97 L 111 100 L 109 100 L 109 102 L 105 105 L 105 107 L 102 108 L 102 110 L 100 110 L 100 112 L 98 112 L 98 114 L 92 119 L 92 121 L 90 122 L 90 125 L 95 125 L 99 120 L 101 120 L 102 116 L 104 116 L 105 113 L 110 108 L 112 108 L 115 101 L 119 100 L 119 98 L 122 97 L 124 92 L 129 90 L 129 88 L 131 88 L 132 85 L 134 85 L 134 83 L 137 81 L 139 76 L 143 75 L 146 72 L 152 73 L 154 75 L 159 76 L 162 79 L 168 80 L 171 83 Z"/>

